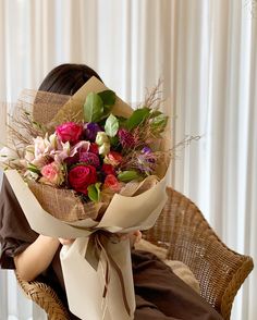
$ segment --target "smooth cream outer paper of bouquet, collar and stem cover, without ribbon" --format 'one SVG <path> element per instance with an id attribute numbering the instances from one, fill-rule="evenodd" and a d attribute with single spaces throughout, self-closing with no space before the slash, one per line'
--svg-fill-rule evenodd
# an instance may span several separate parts
<path id="1" fill-rule="evenodd" d="M 115 270 L 110 270 L 108 294 L 103 299 L 105 258 L 101 254 L 96 271 L 85 259 L 85 253 L 89 235 L 94 232 L 105 230 L 127 233 L 151 227 L 167 201 L 166 179 L 135 197 L 115 194 L 100 222 L 85 219 L 71 223 L 46 212 L 17 171 L 8 170 L 5 175 L 33 230 L 52 237 L 76 238 L 71 246 L 63 246 L 60 254 L 70 310 L 81 319 L 133 319 L 135 297 L 128 242 L 109 242 L 106 250 L 122 270 L 125 295 L 132 312 L 130 316 L 124 308 Z"/>

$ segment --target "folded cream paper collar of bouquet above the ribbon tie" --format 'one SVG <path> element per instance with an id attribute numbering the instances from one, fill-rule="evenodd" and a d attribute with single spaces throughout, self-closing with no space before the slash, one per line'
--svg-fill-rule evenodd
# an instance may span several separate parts
<path id="1" fill-rule="evenodd" d="M 149 229 L 154 225 L 167 200 L 166 179 L 162 179 L 152 188 L 133 198 L 115 194 L 99 223 L 89 218 L 68 223 L 56 219 L 41 208 L 17 171 L 8 170 L 4 173 L 30 227 L 37 233 L 52 237 L 84 237 L 88 236 L 93 229 L 103 229 L 110 232 Z M 161 209 L 159 209 L 160 204 Z M 157 212 L 157 210 L 160 211 Z"/>

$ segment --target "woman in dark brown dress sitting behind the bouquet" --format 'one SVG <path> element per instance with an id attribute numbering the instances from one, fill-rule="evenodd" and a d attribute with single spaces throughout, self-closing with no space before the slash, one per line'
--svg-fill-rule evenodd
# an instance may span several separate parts
<path id="1" fill-rule="evenodd" d="M 91 76 L 100 79 L 86 65 L 62 64 L 47 75 L 39 90 L 73 95 Z M 128 236 L 134 243 L 140 233 L 135 232 Z M 5 179 L 0 195 L 0 241 L 1 268 L 16 269 L 23 280 L 39 280 L 50 284 L 66 304 L 59 253 L 62 245 L 72 241 L 51 238 L 34 232 Z M 156 256 L 133 251 L 132 262 L 137 306 L 134 319 L 221 319 L 207 301 Z M 77 318 L 71 315 L 70 319 Z"/>

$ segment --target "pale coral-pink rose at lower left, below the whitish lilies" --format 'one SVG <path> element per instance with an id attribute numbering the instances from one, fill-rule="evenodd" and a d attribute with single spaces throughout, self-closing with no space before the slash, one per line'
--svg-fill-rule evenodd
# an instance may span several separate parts
<path id="1" fill-rule="evenodd" d="M 40 172 L 42 175 L 40 181 L 44 183 L 61 185 L 64 181 L 62 167 L 57 162 L 51 162 L 47 165 L 44 165 Z"/>

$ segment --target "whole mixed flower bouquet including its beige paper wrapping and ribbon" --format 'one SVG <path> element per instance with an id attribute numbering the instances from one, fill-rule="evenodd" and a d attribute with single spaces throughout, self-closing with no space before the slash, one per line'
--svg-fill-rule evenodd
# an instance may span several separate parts
<path id="1" fill-rule="evenodd" d="M 60 258 L 82 319 L 134 318 L 130 242 L 115 234 L 151 227 L 167 200 L 168 118 L 154 101 L 133 110 L 95 77 L 72 97 L 37 93 L 1 151 L 30 227 L 76 238 Z"/>

